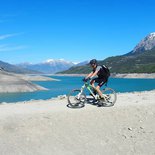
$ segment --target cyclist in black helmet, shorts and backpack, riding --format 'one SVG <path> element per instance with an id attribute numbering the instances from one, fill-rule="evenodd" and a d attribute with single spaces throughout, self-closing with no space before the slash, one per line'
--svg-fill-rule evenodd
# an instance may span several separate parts
<path id="1" fill-rule="evenodd" d="M 96 59 L 92 59 L 89 64 L 92 67 L 92 72 L 89 73 L 84 79 L 83 81 L 90 81 L 90 84 L 93 86 L 94 90 L 97 91 L 97 93 L 99 94 L 101 99 L 104 99 L 102 92 L 100 90 L 100 88 L 107 82 L 108 77 L 106 76 L 106 72 L 105 69 L 103 69 L 102 66 L 98 65 L 97 60 Z M 97 76 L 97 77 L 95 77 Z M 94 78 L 95 77 L 95 78 Z M 95 86 L 94 83 L 98 83 L 97 86 Z M 96 91 L 94 91 L 94 94 L 96 94 Z"/>

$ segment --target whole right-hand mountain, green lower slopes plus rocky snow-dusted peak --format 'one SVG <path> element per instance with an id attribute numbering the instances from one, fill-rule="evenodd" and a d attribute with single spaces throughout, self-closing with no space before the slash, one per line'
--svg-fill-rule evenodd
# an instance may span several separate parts
<path id="1" fill-rule="evenodd" d="M 107 65 L 111 73 L 155 73 L 155 32 L 142 39 L 131 52 L 106 58 L 99 64 Z M 61 74 L 86 74 L 90 71 L 89 65 L 74 66 Z"/>

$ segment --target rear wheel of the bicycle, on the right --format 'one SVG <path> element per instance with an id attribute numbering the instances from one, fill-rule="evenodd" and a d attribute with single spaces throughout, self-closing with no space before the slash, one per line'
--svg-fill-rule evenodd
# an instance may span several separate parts
<path id="1" fill-rule="evenodd" d="M 105 107 L 113 106 L 117 100 L 116 92 L 112 88 L 105 88 L 102 90 L 102 93 L 105 95 L 103 105 Z"/>

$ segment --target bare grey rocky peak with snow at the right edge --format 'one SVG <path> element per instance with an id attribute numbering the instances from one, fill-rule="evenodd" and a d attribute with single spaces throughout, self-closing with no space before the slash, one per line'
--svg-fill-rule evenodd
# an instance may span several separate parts
<path id="1" fill-rule="evenodd" d="M 155 32 L 152 32 L 136 45 L 136 47 L 132 50 L 131 54 L 151 50 L 154 47 L 155 47 Z"/>

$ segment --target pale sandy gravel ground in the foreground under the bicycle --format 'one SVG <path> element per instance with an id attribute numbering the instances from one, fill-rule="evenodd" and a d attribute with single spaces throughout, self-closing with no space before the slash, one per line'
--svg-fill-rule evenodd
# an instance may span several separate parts
<path id="1" fill-rule="evenodd" d="M 66 105 L 0 105 L 0 154 L 155 155 L 155 91 L 120 93 L 113 107 Z"/>

